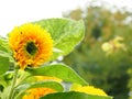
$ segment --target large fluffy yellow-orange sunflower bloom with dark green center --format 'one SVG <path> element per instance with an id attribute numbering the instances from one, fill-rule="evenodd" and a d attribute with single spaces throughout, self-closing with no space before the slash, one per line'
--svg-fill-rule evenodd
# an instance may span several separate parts
<path id="1" fill-rule="evenodd" d="M 45 63 L 53 52 L 53 40 L 50 33 L 32 23 L 14 28 L 9 34 L 9 44 L 21 69 Z"/>

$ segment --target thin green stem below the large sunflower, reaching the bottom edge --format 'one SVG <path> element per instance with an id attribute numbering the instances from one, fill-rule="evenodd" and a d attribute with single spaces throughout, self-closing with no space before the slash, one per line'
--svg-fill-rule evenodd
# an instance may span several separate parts
<path id="1" fill-rule="evenodd" d="M 11 85 L 11 89 L 10 89 L 10 94 L 9 94 L 9 98 L 8 99 L 12 99 L 12 95 L 14 94 L 14 87 L 15 87 L 15 84 L 16 84 L 16 77 L 18 77 L 18 72 L 19 69 L 15 68 L 14 69 L 14 76 L 13 76 L 13 80 L 12 80 L 12 85 Z"/>

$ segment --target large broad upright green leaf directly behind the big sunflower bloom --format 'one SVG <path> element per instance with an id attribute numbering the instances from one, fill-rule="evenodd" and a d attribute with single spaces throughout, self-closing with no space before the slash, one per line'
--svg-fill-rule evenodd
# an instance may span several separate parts
<path id="1" fill-rule="evenodd" d="M 69 54 L 74 47 L 84 38 L 84 21 L 68 19 L 47 19 L 34 22 L 47 30 L 53 40 L 55 51 L 52 59 Z M 56 52 L 59 51 L 59 52 Z"/>

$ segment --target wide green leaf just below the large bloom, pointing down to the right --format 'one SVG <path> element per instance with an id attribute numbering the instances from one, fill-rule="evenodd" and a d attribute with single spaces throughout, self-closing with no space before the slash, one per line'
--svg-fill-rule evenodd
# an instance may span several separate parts
<path id="1" fill-rule="evenodd" d="M 52 76 L 63 79 L 64 81 L 88 85 L 78 74 L 64 64 L 42 66 L 38 68 L 26 69 L 33 76 Z"/>

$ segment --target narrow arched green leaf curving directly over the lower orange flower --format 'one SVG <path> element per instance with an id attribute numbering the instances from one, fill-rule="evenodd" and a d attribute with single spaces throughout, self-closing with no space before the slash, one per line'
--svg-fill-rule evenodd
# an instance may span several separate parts
<path id="1" fill-rule="evenodd" d="M 22 96 L 25 94 L 25 91 L 29 89 L 32 89 L 32 88 L 52 88 L 59 92 L 62 92 L 64 90 L 63 86 L 56 81 L 37 81 L 34 84 L 24 84 L 24 85 L 19 86 L 15 89 L 15 98 L 14 99 L 21 99 Z"/>

